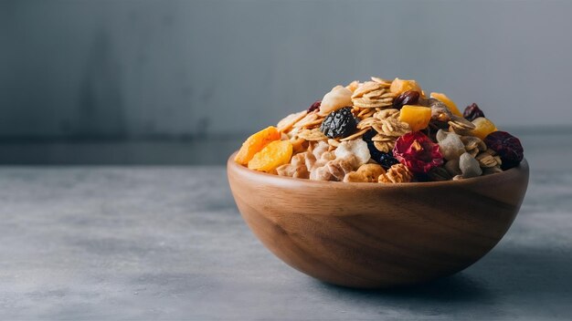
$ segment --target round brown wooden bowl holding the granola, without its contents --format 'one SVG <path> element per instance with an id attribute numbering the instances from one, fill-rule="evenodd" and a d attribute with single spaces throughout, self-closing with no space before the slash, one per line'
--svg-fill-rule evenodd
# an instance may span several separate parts
<path id="1" fill-rule="evenodd" d="M 378 184 L 281 177 L 228 159 L 242 217 L 285 263 L 334 285 L 411 285 L 475 263 L 511 226 L 528 164 L 462 181 Z"/>

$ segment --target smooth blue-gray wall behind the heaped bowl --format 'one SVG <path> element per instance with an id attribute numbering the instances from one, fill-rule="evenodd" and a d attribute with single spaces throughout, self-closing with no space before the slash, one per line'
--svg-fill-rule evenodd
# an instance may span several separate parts
<path id="1" fill-rule="evenodd" d="M 572 2 L 3 1 L 0 138 L 232 134 L 339 82 L 417 78 L 572 126 Z"/>

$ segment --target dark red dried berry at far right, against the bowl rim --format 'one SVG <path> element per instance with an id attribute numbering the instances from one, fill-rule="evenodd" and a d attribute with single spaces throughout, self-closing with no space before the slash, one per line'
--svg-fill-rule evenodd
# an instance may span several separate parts
<path id="1" fill-rule="evenodd" d="M 484 143 L 501 157 L 503 171 L 517 166 L 524 157 L 523 145 L 506 131 L 493 131 L 484 138 Z"/>

